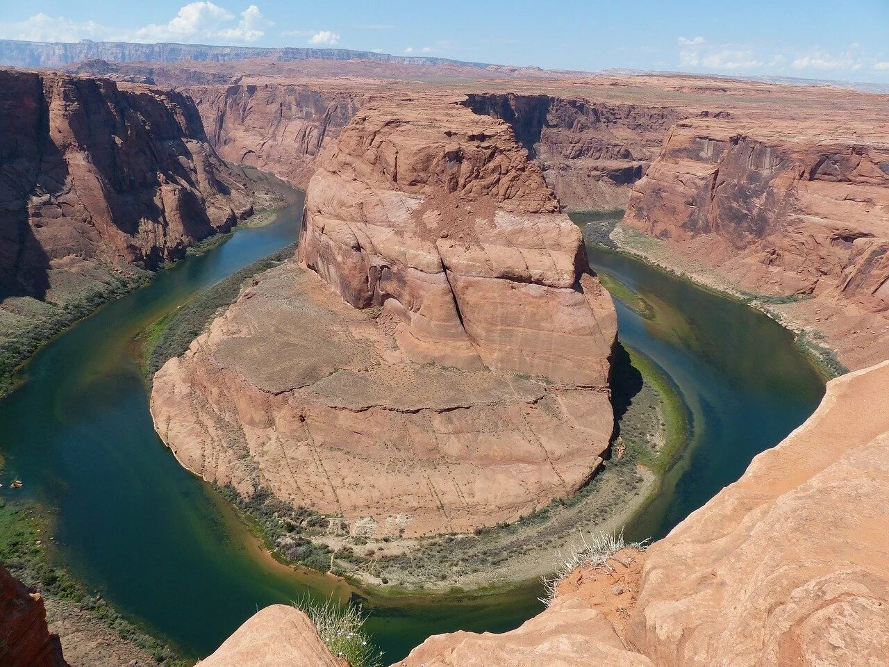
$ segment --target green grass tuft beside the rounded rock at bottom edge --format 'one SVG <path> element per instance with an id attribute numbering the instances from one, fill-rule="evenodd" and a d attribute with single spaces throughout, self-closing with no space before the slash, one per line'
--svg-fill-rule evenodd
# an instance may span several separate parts
<path id="1" fill-rule="evenodd" d="M 322 605 L 303 600 L 293 606 L 308 615 L 324 646 L 349 667 L 381 667 L 382 653 L 368 639 L 360 607 L 338 605 L 332 599 Z"/>

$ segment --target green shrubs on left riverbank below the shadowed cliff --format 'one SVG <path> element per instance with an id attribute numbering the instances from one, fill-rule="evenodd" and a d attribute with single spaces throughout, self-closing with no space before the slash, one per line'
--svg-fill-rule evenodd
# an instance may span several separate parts
<path id="1" fill-rule="evenodd" d="M 64 302 L 37 301 L 31 297 L 4 300 L 0 309 L 0 398 L 18 386 L 20 366 L 54 335 L 90 315 L 101 304 L 148 282 L 148 271 L 133 270 L 132 277 L 109 274 L 102 281 L 89 281 L 86 286 L 60 285 L 58 291 L 69 295 Z"/>

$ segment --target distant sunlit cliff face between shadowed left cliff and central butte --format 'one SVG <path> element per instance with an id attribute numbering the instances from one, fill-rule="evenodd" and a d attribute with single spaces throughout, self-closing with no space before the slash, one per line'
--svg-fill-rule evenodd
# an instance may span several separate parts
<path id="1" fill-rule="evenodd" d="M 297 84 L 186 86 L 213 147 L 229 162 L 260 167 L 304 188 L 314 160 L 364 101 L 359 92 Z"/>

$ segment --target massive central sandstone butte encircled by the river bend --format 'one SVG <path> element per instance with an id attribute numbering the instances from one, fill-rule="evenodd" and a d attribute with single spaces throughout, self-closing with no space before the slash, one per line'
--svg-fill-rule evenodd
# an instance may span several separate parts
<path id="1" fill-rule="evenodd" d="M 365 106 L 309 183 L 299 254 L 310 271 L 260 276 L 156 374 L 190 470 L 344 519 L 335 544 L 514 520 L 597 469 L 613 305 L 508 125 Z"/>

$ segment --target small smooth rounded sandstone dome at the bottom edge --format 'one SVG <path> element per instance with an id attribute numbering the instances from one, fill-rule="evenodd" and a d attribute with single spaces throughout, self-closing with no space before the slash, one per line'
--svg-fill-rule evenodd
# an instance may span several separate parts
<path id="1" fill-rule="evenodd" d="M 342 667 L 299 609 L 266 607 L 248 619 L 201 667 Z"/>

